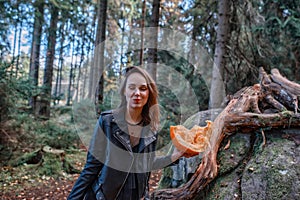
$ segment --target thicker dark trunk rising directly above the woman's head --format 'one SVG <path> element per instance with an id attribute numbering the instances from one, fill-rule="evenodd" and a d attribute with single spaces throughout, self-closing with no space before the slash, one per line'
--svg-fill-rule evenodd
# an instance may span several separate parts
<path id="1" fill-rule="evenodd" d="M 150 73 L 154 81 L 156 81 L 156 64 L 157 64 L 157 37 L 158 37 L 158 23 L 159 23 L 159 8 L 160 0 L 153 0 L 152 16 L 150 26 L 152 27 L 150 33 L 150 48 L 148 49 L 148 65 L 147 71 Z"/>

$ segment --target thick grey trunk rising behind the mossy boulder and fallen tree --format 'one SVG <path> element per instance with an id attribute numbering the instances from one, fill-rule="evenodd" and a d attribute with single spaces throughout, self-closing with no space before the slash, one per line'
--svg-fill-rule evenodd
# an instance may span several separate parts
<path id="1" fill-rule="evenodd" d="M 223 82 L 226 44 L 229 40 L 230 0 L 218 2 L 218 30 L 210 90 L 210 108 L 219 108 L 225 98 Z"/>

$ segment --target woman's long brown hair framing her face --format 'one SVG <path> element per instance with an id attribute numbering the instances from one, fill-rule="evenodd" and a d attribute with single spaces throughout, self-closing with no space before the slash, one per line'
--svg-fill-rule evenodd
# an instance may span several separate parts
<path id="1" fill-rule="evenodd" d="M 124 96 L 124 91 L 127 79 L 132 73 L 139 73 L 146 79 L 147 87 L 149 89 L 149 97 L 147 103 L 143 107 L 142 118 L 144 123 L 149 124 L 153 131 L 157 131 L 159 126 L 158 89 L 156 83 L 146 70 L 137 66 L 125 68 L 124 79 L 120 86 L 121 104 L 119 107 L 126 108 L 127 101 Z"/>

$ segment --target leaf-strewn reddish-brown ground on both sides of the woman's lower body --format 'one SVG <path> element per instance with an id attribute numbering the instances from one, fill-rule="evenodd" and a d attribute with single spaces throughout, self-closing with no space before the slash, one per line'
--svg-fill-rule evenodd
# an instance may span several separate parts
<path id="1" fill-rule="evenodd" d="M 78 157 L 80 159 L 80 157 Z M 81 162 L 76 162 L 82 168 Z M 66 199 L 79 174 L 62 174 L 59 177 L 26 173 L 26 167 L 2 167 L 0 177 L 1 200 Z M 161 171 L 154 171 L 149 181 L 150 191 L 158 187 Z"/>

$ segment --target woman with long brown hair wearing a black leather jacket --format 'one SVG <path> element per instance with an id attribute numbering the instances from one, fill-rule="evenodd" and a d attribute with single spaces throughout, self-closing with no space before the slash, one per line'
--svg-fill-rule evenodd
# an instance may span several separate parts
<path id="1" fill-rule="evenodd" d="M 139 67 L 126 68 L 119 108 L 101 113 L 87 161 L 68 199 L 148 198 L 150 171 L 176 161 L 182 152 L 156 157 L 158 91 Z"/>

